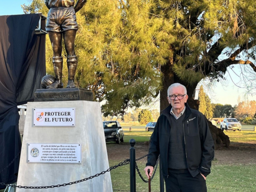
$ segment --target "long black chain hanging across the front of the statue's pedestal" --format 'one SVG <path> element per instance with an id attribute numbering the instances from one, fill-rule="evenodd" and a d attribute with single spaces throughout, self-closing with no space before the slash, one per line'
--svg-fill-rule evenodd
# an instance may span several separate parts
<path id="1" fill-rule="evenodd" d="M 106 171 L 102 171 L 101 173 L 97 173 L 96 175 L 94 176 L 89 176 L 87 178 L 84 178 L 84 179 L 81 179 L 81 180 L 78 180 L 78 181 L 73 181 L 73 182 L 69 182 L 69 183 L 64 183 L 64 184 L 59 184 L 59 185 L 52 185 L 52 186 L 40 186 L 40 187 L 27 187 L 27 186 L 20 186 L 20 185 L 15 185 L 15 184 L 5 184 L 5 183 L 0 183 L 0 185 L 5 185 L 6 187 L 17 187 L 17 188 L 24 188 L 24 189 L 48 189 L 48 188 L 54 188 L 54 187 L 65 187 L 67 185 L 73 185 L 73 184 L 76 184 L 76 183 L 80 183 L 80 182 L 83 182 L 83 181 L 87 181 L 89 179 L 92 179 L 94 177 L 97 177 L 97 176 L 100 176 L 100 175 L 103 175 L 113 169 L 116 169 L 117 167 L 121 167 L 123 165 L 127 165 L 130 163 L 130 160 L 127 159 L 127 160 L 124 160 L 123 162 L 119 163 L 118 165 L 115 165 L 115 166 L 112 166 L 112 167 L 109 167 Z"/>

